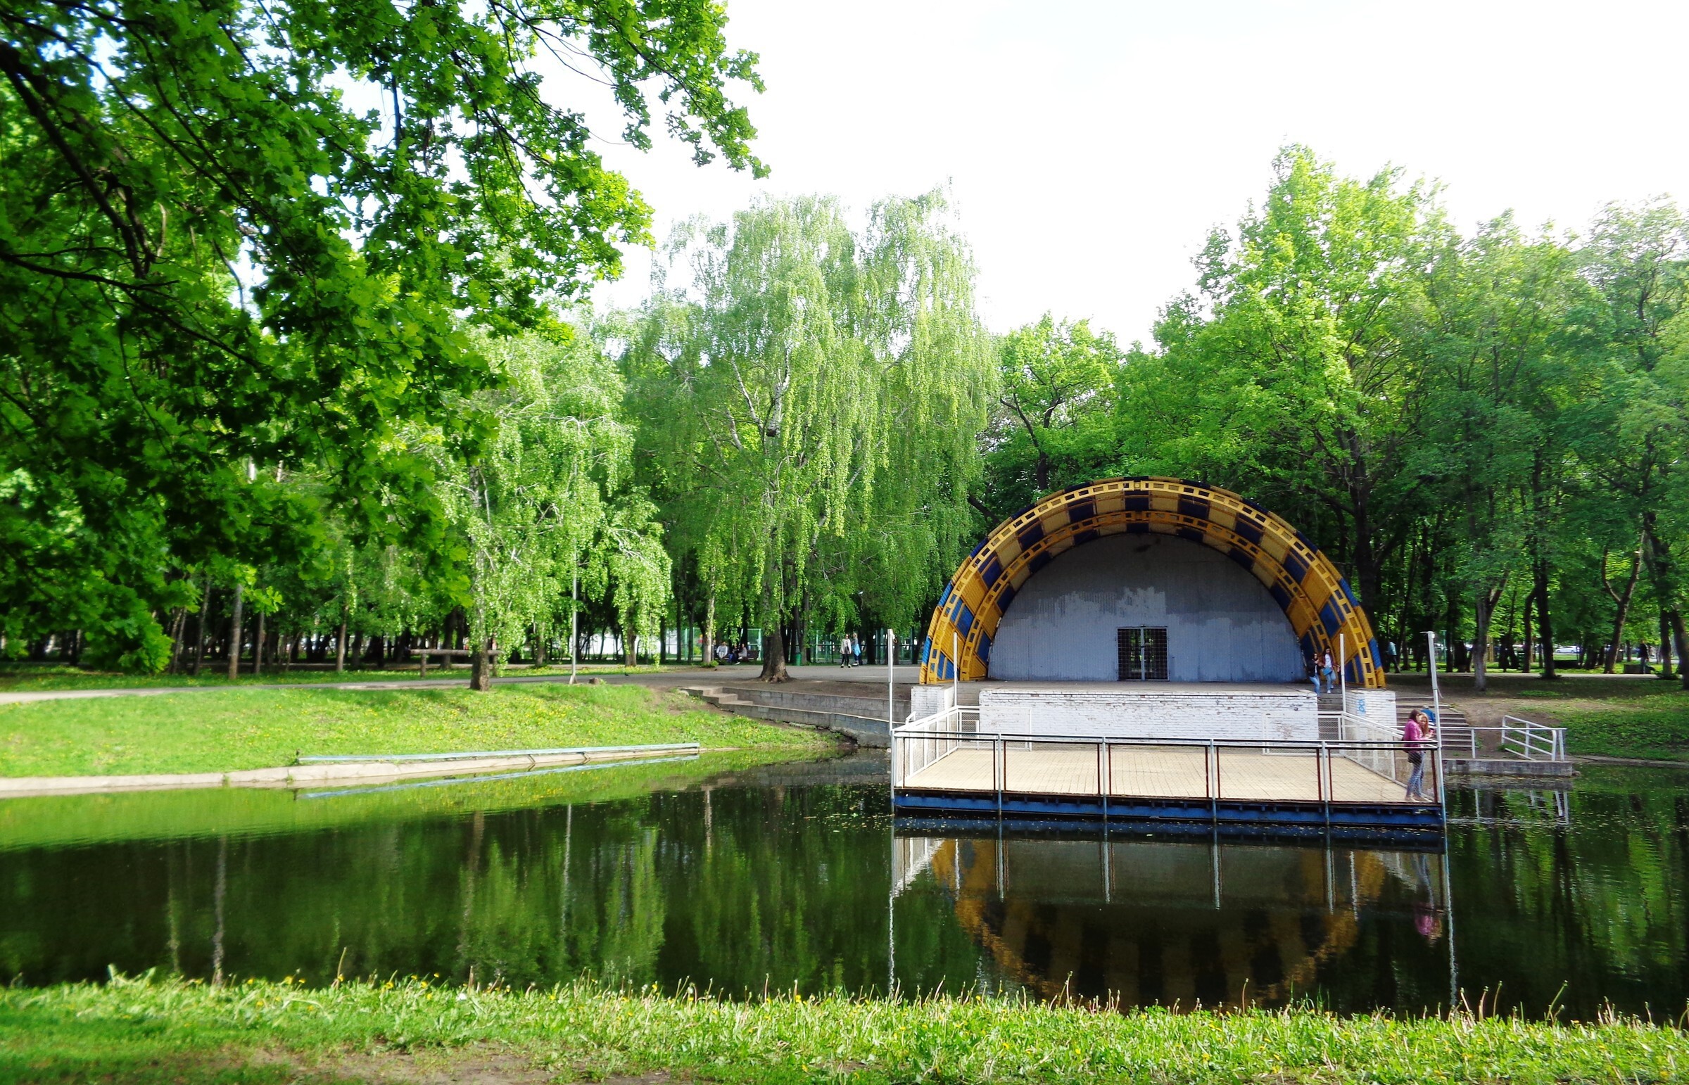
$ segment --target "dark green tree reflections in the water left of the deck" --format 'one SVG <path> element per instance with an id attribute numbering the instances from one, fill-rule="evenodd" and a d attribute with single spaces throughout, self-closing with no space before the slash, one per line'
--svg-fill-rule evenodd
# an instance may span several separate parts
<path id="1" fill-rule="evenodd" d="M 714 789 L 230 838 L 228 975 L 856 987 L 883 977 L 883 820 L 860 788 Z M 866 837 L 865 837 L 866 835 Z M 209 977 L 218 840 L 17 852 L 3 977 Z"/>

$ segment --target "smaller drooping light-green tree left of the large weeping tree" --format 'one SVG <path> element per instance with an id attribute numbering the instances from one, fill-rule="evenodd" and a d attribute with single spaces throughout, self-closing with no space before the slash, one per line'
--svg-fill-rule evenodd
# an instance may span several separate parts
<path id="1" fill-rule="evenodd" d="M 657 507 L 632 485 L 622 375 L 571 328 L 481 343 L 503 377 L 480 406 L 497 421 L 468 463 L 443 455 L 443 497 L 466 542 L 470 684 L 503 651 L 588 598 L 610 595 L 625 641 L 660 627 L 669 556 Z M 568 620 L 568 619 L 564 619 Z"/>

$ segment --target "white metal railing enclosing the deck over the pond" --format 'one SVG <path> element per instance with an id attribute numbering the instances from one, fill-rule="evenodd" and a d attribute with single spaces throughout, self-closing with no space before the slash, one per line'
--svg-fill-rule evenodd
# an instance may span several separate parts
<path id="1" fill-rule="evenodd" d="M 1439 803 L 1436 796 L 1441 794 L 1442 759 L 1434 742 L 1412 747 L 1402 740 L 1397 728 L 1371 720 L 1351 718 L 1346 725 L 1351 733 L 1368 737 L 1138 739 L 981 732 L 976 710 L 946 708 L 893 728 L 892 788 L 899 791 L 914 784 L 939 791 L 1091 794 L 1105 801 L 1130 796 L 1203 801 Z M 973 752 L 975 757 L 958 764 L 954 771 L 934 772 L 936 766 L 963 752 Z M 1252 759 L 1260 761 L 1262 754 L 1279 755 L 1274 759 L 1274 767 L 1250 764 Z M 1412 754 L 1422 757 L 1417 794 L 1407 791 L 1407 781 L 1415 771 L 1410 762 Z M 1306 764 L 1299 766 L 1297 761 Z M 1334 761 L 1351 761 L 1370 769 L 1375 781 L 1344 776 L 1344 794 L 1339 796 Z M 1385 781 L 1388 788 L 1371 791 Z M 1402 794 L 1397 796 L 1393 788 L 1402 788 Z"/>

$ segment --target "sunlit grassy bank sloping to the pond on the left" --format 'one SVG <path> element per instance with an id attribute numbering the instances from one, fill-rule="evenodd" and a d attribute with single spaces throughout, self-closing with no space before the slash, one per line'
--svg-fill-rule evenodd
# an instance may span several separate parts
<path id="1" fill-rule="evenodd" d="M 701 742 L 831 749 L 817 732 L 711 712 L 644 686 L 453 690 L 245 688 L 0 705 L 0 772 L 98 776 L 226 772 L 296 754 L 441 754 L 569 745 Z"/>

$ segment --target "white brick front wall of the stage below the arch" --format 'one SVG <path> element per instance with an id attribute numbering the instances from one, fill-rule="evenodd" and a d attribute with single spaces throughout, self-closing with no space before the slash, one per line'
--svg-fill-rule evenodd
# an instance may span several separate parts
<path id="1" fill-rule="evenodd" d="M 980 690 L 980 730 L 1319 742 L 1319 701 L 1290 684 L 1024 683 Z"/>

